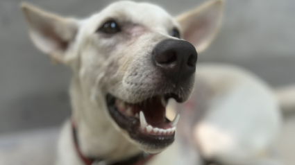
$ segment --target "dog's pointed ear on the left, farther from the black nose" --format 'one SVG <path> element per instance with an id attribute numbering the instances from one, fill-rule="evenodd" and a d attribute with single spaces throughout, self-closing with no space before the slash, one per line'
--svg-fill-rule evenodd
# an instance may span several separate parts
<path id="1" fill-rule="evenodd" d="M 22 3 L 21 7 L 35 46 L 54 61 L 66 64 L 65 54 L 76 37 L 78 21 L 45 12 L 28 3 Z"/>

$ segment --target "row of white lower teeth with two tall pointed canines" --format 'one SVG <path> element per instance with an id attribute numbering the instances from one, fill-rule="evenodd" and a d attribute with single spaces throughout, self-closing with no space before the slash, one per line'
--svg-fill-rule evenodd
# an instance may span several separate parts
<path id="1" fill-rule="evenodd" d="M 176 115 L 174 121 L 172 121 L 171 126 L 172 128 L 168 128 L 167 130 L 162 129 L 162 128 L 153 128 L 152 125 L 148 125 L 148 123 L 146 123 L 146 118 L 144 116 L 144 112 L 140 111 L 140 128 L 143 131 L 146 131 L 148 133 L 153 132 L 154 134 L 173 134 L 176 130 L 176 124 L 178 122 L 179 119 L 179 114 Z"/>

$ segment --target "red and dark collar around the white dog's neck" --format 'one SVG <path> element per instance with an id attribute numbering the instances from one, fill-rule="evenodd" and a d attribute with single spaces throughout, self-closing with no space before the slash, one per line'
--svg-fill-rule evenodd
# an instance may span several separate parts
<path id="1" fill-rule="evenodd" d="M 89 157 L 85 157 L 81 153 L 81 150 L 78 146 L 78 137 L 76 134 L 77 130 L 76 130 L 76 125 L 75 125 L 74 121 L 71 121 L 71 130 L 72 130 L 73 138 L 74 138 L 74 146 L 76 148 L 76 151 L 77 151 L 79 157 L 82 159 L 82 161 L 84 162 L 85 165 L 92 165 L 96 161 L 98 161 L 98 162 L 103 161 L 103 159 L 92 159 Z M 134 157 L 124 159 L 121 162 L 116 162 L 116 163 L 106 164 L 106 165 L 144 165 L 146 162 L 148 162 L 151 159 L 151 157 L 153 157 L 153 155 L 141 153 L 139 155 L 135 155 Z"/>

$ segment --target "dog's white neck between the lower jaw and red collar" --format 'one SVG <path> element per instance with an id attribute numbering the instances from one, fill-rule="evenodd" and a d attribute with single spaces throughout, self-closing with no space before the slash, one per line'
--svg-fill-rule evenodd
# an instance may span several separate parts
<path id="1" fill-rule="evenodd" d="M 142 152 L 112 125 L 106 112 L 103 112 L 103 98 L 96 103 L 90 94 L 83 91 L 77 76 L 70 87 L 72 119 L 76 122 L 77 137 L 81 153 L 86 157 L 118 160 Z"/>

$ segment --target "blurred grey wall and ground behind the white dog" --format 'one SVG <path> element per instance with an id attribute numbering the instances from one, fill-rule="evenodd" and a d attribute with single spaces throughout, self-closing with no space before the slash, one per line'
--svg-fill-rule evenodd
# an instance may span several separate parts
<path id="1" fill-rule="evenodd" d="M 60 15 L 83 18 L 105 8 L 106 0 L 26 0 Z M 150 1 L 172 15 L 205 0 Z M 69 117 L 70 69 L 54 65 L 29 40 L 19 0 L 0 0 L 0 164 L 4 157 L 26 155 L 31 141 L 54 158 L 58 127 Z M 199 62 L 237 64 L 272 87 L 295 83 L 295 1 L 226 0 L 221 31 Z M 295 113 L 284 115 L 276 144 L 286 164 L 294 164 Z M 32 134 L 35 134 L 32 139 Z M 46 140 L 45 140 L 46 139 Z M 46 143 L 44 143 L 46 141 Z M 30 146 L 37 152 L 37 148 Z M 5 150 L 5 152 L 3 151 Z M 24 160 L 25 161 L 25 160 Z M 25 164 L 25 163 L 24 163 Z"/>

